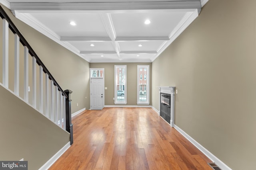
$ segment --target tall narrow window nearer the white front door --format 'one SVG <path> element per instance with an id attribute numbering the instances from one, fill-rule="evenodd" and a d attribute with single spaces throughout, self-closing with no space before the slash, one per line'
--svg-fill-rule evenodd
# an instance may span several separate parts
<path id="1" fill-rule="evenodd" d="M 115 104 L 126 104 L 126 65 L 115 65 Z"/>

